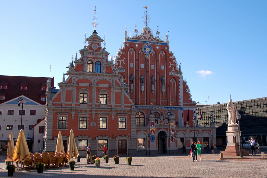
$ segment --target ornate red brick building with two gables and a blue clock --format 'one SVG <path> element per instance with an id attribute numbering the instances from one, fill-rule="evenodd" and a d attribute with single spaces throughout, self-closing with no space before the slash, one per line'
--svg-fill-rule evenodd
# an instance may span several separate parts
<path id="1" fill-rule="evenodd" d="M 148 26 L 134 37 L 125 30 L 115 64 L 96 30 L 86 41 L 57 94 L 50 98 L 47 92 L 45 149 L 55 150 L 58 131 L 67 145 L 70 129 L 82 156 L 88 143 L 97 156 L 104 145 L 110 156 L 178 153 L 183 144 L 189 148 L 196 102 L 169 49 L 168 34 L 164 41 Z M 197 127 L 195 137 L 213 143 L 213 130 Z"/>

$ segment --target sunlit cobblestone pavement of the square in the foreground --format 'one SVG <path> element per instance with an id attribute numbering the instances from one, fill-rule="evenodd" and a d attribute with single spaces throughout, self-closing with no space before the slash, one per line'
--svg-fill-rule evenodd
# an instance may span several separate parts
<path id="1" fill-rule="evenodd" d="M 267 155 L 265 156 L 267 157 Z M 224 156 L 224 158 L 226 157 Z M 112 158 L 109 158 L 110 163 L 105 163 L 103 158 L 100 158 L 100 169 L 96 169 L 95 164 L 86 164 L 86 158 L 82 158 L 81 162 L 76 162 L 74 171 L 70 171 L 69 167 L 45 168 L 42 174 L 38 174 L 36 169 L 32 169 L 15 171 L 13 177 L 267 177 L 267 160 L 257 160 L 257 158 L 261 158 L 260 155 L 245 157 L 255 159 L 220 160 L 219 154 L 202 154 L 202 161 L 193 162 L 191 155 L 160 154 L 133 156 L 132 165 L 128 166 L 125 157 L 121 156 L 120 164 L 114 164 Z M 232 156 L 231 158 L 239 157 Z M 5 157 L 1 156 L 0 159 L 5 159 Z M 0 163 L 0 177 L 7 177 L 3 161 Z"/>

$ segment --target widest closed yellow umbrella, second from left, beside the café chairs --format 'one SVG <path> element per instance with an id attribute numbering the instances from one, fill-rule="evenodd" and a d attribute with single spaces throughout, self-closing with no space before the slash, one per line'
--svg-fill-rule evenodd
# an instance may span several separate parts
<path id="1" fill-rule="evenodd" d="M 31 155 L 29 152 L 24 132 L 23 130 L 20 130 L 12 160 L 14 162 L 17 161 L 24 162 L 26 160 L 29 160 L 30 158 Z"/>

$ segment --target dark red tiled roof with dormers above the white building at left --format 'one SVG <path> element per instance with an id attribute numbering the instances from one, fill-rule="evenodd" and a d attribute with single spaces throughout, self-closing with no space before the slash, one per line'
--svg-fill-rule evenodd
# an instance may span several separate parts
<path id="1" fill-rule="evenodd" d="M 45 105 L 45 101 L 41 101 L 41 85 L 42 82 L 45 82 L 49 79 L 49 77 L 28 77 L 28 76 L 5 76 L 0 75 L 0 83 L 2 81 L 9 81 L 7 85 L 5 99 L 0 100 L 0 104 L 21 95 L 24 95 L 33 101 L 36 101 L 40 104 Z M 22 81 L 26 81 L 27 90 L 20 90 L 20 86 Z M 54 77 L 51 77 L 51 87 L 54 87 Z M 2 91 L 2 90 L 1 90 Z M 1 92 L 0 91 L 0 92 Z"/>

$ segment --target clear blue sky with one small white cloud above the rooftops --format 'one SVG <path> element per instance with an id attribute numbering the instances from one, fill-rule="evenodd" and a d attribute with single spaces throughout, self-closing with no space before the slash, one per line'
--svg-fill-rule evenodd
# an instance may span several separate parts
<path id="1" fill-rule="evenodd" d="M 1 1 L 0 75 L 55 77 L 62 81 L 71 57 L 97 26 L 116 55 L 125 25 L 144 28 L 148 6 L 153 32 L 169 30 L 192 99 L 210 104 L 266 97 L 267 1 Z M 79 53 L 78 53 L 79 58 Z"/>

